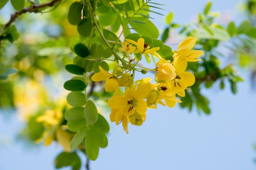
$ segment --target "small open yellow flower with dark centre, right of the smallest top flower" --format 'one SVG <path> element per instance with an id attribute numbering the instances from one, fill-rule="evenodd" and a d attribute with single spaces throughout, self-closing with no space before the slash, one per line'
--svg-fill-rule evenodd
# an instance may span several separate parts
<path id="1" fill-rule="evenodd" d="M 153 55 L 157 56 L 156 51 L 158 51 L 160 49 L 160 47 L 154 47 L 154 48 L 149 49 L 150 47 L 149 47 L 148 43 L 145 43 L 144 38 L 139 38 L 137 40 L 137 42 L 135 42 L 134 40 L 130 40 L 130 39 L 125 39 L 125 41 L 128 41 L 137 46 L 137 50 L 135 50 L 134 53 L 140 52 L 140 54 L 145 54 L 147 56 L 148 56 L 148 54 L 153 54 Z"/>

